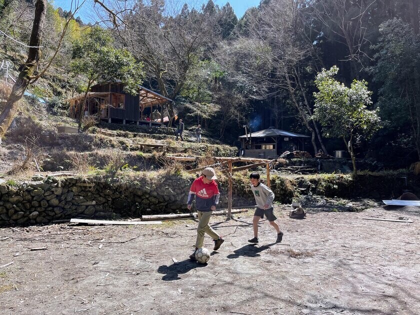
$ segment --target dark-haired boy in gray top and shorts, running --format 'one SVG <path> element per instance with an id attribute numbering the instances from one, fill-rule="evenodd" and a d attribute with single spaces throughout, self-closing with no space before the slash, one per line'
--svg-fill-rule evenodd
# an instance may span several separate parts
<path id="1" fill-rule="evenodd" d="M 259 182 L 259 174 L 257 172 L 253 172 L 249 175 L 249 180 L 251 182 L 251 190 L 255 197 L 256 202 L 256 209 L 254 216 L 252 218 L 252 227 L 254 232 L 254 237 L 251 239 L 248 239 L 248 242 L 250 243 L 257 243 L 258 242 L 258 221 L 264 217 L 267 218 L 268 223 L 272 227 L 275 228 L 277 231 L 277 239 L 275 242 L 280 242 L 283 238 L 283 232 L 280 231 L 278 228 L 277 223 L 274 222 L 276 219 L 273 208 L 272 208 L 272 201 L 274 200 L 274 193 L 271 191 L 270 188 L 268 188 L 263 183 Z"/>

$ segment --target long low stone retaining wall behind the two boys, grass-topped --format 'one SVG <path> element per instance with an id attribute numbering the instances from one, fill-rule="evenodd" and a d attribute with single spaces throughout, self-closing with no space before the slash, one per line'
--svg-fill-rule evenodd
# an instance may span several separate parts
<path id="1" fill-rule="evenodd" d="M 402 176 L 406 176 L 402 177 Z M 0 179 L 0 226 L 49 223 L 72 217 L 118 218 L 142 214 L 187 212 L 186 200 L 195 176 L 152 175 L 139 172 L 137 180 L 96 177 L 47 177 L 16 183 Z M 232 206 L 255 204 L 247 174 L 233 177 Z M 420 190 L 419 176 L 404 172 L 351 175 L 328 174 L 298 177 L 295 180 L 271 176 L 275 201 L 290 203 L 298 194 L 348 198 L 389 199 L 406 189 Z M 226 177 L 218 180 L 219 208 L 227 207 Z"/>

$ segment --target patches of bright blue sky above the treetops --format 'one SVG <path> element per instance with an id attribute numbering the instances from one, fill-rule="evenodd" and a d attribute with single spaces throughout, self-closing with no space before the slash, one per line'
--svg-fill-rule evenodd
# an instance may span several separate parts
<path id="1" fill-rule="evenodd" d="M 81 0 L 78 1 L 81 2 Z M 60 6 L 63 10 L 68 11 L 70 9 L 71 0 L 51 0 L 51 2 L 55 7 Z M 199 0 L 198 2 L 206 3 L 207 0 Z M 220 7 L 226 4 L 226 2 L 229 2 L 238 18 L 242 17 L 248 7 L 257 6 L 259 4 L 259 0 L 213 0 L 213 2 Z M 79 13 L 76 14 L 76 16 L 80 16 L 85 23 L 92 22 L 94 19 L 94 15 L 92 14 L 92 3 L 93 0 L 86 0 Z"/>

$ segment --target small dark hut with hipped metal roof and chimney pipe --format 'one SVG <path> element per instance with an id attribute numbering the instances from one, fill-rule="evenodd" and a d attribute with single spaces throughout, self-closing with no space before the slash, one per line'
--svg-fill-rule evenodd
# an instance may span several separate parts
<path id="1" fill-rule="evenodd" d="M 240 155 L 246 157 L 277 158 L 286 150 L 304 151 L 308 135 L 269 127 L 239 136 Z"/>

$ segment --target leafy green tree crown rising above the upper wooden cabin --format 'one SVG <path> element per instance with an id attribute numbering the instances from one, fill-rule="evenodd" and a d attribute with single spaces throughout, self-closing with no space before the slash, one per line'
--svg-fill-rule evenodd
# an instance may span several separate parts
<path id="1" fill-rule="evenodd" d="M 121 80 L 126 92 L 136 94 L 144 72 L 142 63 L 125 49 L 111 46 L 110 33 L 93 27 L 73 43 L 71 69 L 84 74 L 89 82 Z"/>

